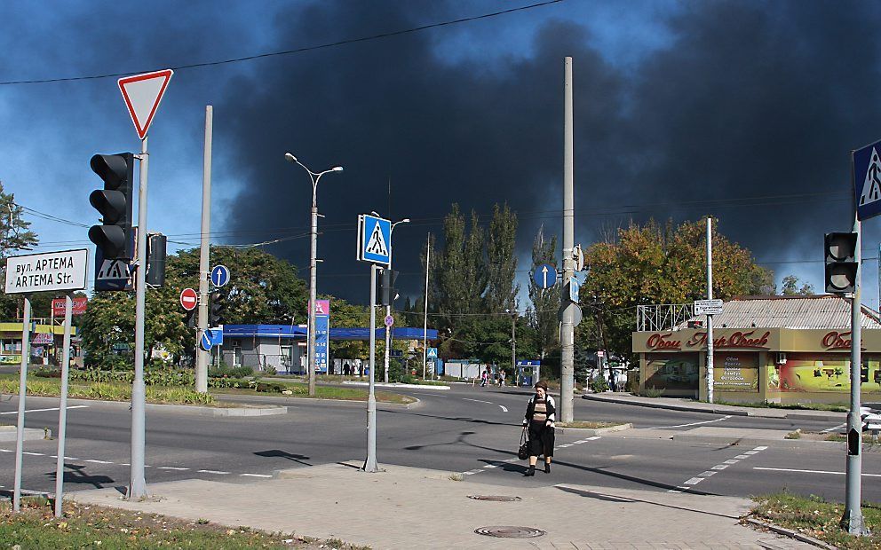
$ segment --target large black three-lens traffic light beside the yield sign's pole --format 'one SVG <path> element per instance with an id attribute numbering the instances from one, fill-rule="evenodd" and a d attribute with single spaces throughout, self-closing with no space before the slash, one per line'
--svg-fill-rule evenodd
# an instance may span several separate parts
<path id="1" fill-rule="evenodd" d="M 89 202 L 101 213 L 101 225 L 92 225 L 89 240 L 105 260 L 131 260 L 134 239 L 131 232 L 131 189 L 134 179 L 132 153 L 96 154 L 91 169 L 104 180 L 104 189 L 91 192 Z"/>

